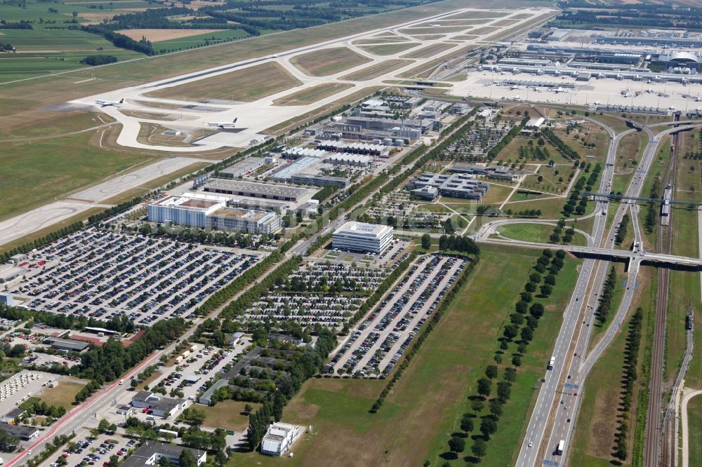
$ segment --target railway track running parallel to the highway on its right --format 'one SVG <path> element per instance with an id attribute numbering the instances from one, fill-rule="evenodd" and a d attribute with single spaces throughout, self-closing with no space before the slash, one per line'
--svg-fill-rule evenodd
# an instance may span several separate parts
<path id="1" fill-rule="evenodd" d="M 676 120 L 679 116 L 676 116 Z M 675 167 L 677 163 L 678 134 L 671 139 L 670 162 L 663 175 L 661 189 L 670 184 L 675 187 Z M 674 192 L 675 190 L 673 190 Z M 672 212 L 671 212 L 672 214 Z M 670 254 L 673 243 L 672 215 L 667 225 L 660 225 L 656 236 L 656 251 Z M 646 435 L 644 442 L 644 465 L 646 467 L 674 466 L 675 449 L 670 449 L 670 443 L 662 442 L 664 431 L 661 415 L 663 414 L 663 367 L 665 365 L 665 334 L 666 316 L 668 315 L 668 281 L 670 270 L 658 269 L 658 293 L 656 301 L 656 323 L 654 325 L 654 345 L 651 356 L 651 379 L 649 383 L 649 407 L 646 417 Z M 675 428 L 675 427 L 673 427 Z M 673 429 L 673 432 L 675 430 Z M 670 431 L 668 431 L 670 433 Z M 673 462 L 670 462 L 670 456 Z"/>

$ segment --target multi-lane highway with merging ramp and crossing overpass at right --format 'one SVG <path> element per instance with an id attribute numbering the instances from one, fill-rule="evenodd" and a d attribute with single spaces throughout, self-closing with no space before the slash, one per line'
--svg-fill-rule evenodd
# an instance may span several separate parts
<path id="1" fill-rule="evenodd" d="M 658 144 L 664 135 L 671 133 L 670 130 L 665 130 L 663 133 L 654 136 L 649 128 L 645 128 L 645 130 L 649 134 L 649 143 L 644 149 L 644 155 L 637 173 L 626 191 L 627 196 L 638 196 L 640 194 L 645 175 L 656 156 Z M 672 130 L 675 131 L 675 129 Z M 625 133 L 628 134 L 630 131 L 616 135 L 611 140 L 607 154 L 607 169 L 609 170 L 604 170 L 600 183 L 600 189 L 604 193 L 611 191 L 614 166 L 610 164 L 614 164 L 614 161 L 616 161 L 618 142 L 621 141 L 621 137 L 625 136 Z M 608 130 L 608 133 L 610 136 L 612 135 L 611 130 Z M 578 393 L 592 366 L 597 362 L 619 330 L 621 330 L 621 324 L 633 300 L 635 292 L 633 285 L 636 283 L 637 273 L 642 260 L 653 262 L 677 261 L 677 258 L 666 257 L 668 255 L 651 255 L 643 250 L 633 252 L 614 250 L 616 226 L 621 222 L 623 215 L 629 208 L 632 208 L 633 212 L 631 217 L 634 224 L 635 241 L 639 243 L 641 232 L 635 215 L 637 212 L 635 205 L 633 203 L 621 203 L 614 215 L 609 234 L 605 236 L 604 229 L 608 205 L 609 203 L 606 201 L 598 201 L 595 208 L 595 212 L 600 212 L 600 215 L 595 217 L 595 224 L 592 228 L 592 241 L 597 247 L 593 248 L 591 244 L 588 247 L 579 248 L 582 249 L 581 252 L 583 253 L 597 254 L 597 251 L 599 251 L 602 253 L 607 252 L 612 257 L 621 257 L 622 254 L 628 256 L 627 289 L 616 316 L 611 320 L 611 325 L 593 351 L 587 358 L 584 358 L 583 355 L 587 351 L 590 341 L 591 323 L 594 318 L 594 311 L 597 308 L 597 297 L 609 272 L 609 262 L 595 262 L 594 259 L 585 259 L 583 262 L 571 302 L 564 311 L 564 321 L 553 351 L 556 364 L 552 371 L 545 371 L 544 382 L 540 388 L 534 412 L 531 414 L 527 427 L 527 434 L 519 452 L 517 460 L 517 466 L 519 467 L 536 466 L 541 463 L 557 466 L 563 462 L 567 456 L 567 450 L 575 426 L 580 400 Z M 603 212 L 604 215 L 602 214 Z M 687 263 L 689 260 L 680 259 L 680 261 Z M 592 280 L 592 286 L 588 292 L 587 285 L 590 283 L 590 280 Z M 573 340 L 574 335 L 577 336 L 575 340 Z M 555 447 L 560 440 L 564 440 L 562 455 L 555 454 Z M 531 447 L 529 447 L 530 443 Z"/>

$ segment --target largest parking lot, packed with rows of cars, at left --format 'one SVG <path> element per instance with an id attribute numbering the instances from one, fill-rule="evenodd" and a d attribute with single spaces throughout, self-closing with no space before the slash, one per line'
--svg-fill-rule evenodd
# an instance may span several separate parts
<path id="1" fill-rule="evenodd" d="M 27 283 L 11 287 L 32 309 L 93 316 L 126 314 L 140 325 L 193 309 L 230 283 L 260 255 L 190 245 L 168 239 L 79 231 L 34 253 Z"/>

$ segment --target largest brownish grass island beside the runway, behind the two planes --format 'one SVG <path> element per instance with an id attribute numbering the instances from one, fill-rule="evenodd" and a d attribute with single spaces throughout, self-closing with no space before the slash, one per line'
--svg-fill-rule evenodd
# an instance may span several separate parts
<path id="1" fill-rule="evenodd" d="M 173 86 L 146 94 L 148 97 L 183 100 L 240 100 L 252 102 L 302 82 L 275 62 L 238 69 L 192 83 Z"/>

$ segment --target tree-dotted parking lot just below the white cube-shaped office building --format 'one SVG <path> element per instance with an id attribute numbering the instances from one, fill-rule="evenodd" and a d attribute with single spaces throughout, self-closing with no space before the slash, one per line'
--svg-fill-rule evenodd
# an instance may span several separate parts
<path id="1" fill-rule="evenodd" d="M 246 310 L 244 320 L 295 320 L 340 329 L 385 278 L 383 269 L 305 262 Z"/>

